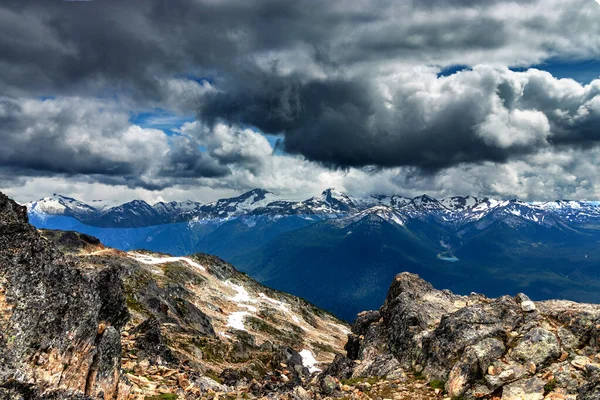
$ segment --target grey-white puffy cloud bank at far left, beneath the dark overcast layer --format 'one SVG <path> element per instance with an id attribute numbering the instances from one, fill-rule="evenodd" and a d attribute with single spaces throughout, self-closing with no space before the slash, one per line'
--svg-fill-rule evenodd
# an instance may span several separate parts
<path id="1" fill-rule="evenodd" d="M 147 189 L 228 174 L 193 139 L 131 126 L 128 117 L 105 100 L 0 98 L 0 165 L 15 176 L 88 175 Z"/>

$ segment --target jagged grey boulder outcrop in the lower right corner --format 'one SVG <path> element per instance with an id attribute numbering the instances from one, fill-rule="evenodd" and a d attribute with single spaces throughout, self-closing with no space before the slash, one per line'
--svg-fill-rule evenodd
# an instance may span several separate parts
<path id="1" fill-rule="evenodd" d="M 459 296 L 402 273 L 352 331 L 352 370 L 343 358 L 329 367 L 344 376 L 412 373 L 451 398 L 600 398 L 600 305 Z"/>

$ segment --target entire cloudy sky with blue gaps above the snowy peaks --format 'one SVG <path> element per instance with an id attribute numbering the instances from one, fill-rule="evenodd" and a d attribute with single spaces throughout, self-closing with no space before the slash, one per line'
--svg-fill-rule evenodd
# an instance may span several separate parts
<path id="1" fill-rule="evenodd" d="M 600 199 L 595 0 L 4 0 L 0 190 Z"/>

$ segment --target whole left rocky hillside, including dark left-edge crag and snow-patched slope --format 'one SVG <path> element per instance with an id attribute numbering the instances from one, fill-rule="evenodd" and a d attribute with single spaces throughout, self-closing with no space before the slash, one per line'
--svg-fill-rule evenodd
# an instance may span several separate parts
<path id="1" fill-rule="evenodd" d="M 0 196 L 0 399 L 289 392 L 349 327 L 207 255 L 122 252 L 37 231 Z"/>

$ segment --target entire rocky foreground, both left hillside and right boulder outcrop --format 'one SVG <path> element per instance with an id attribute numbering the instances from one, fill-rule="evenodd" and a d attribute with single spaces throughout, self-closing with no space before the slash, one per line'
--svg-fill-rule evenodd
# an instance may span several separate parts
<path id="1" fill-rule="evenodd" d="M 37 231 L 0 194 L 0 399 L 600 399 L 600 306 L 400 274 L 351 327 L 207 255 Z"/>

